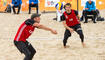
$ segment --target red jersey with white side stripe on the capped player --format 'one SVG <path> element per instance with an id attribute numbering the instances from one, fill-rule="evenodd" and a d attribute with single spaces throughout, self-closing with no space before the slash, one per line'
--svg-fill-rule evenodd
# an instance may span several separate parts
<path id="1" fill-rule="evenodd" d="M 23 22 L 19 27 L 14 40 L 26 42 L 26 39 L 33 33 L 35 29 L 35 26 L 33 26 L 34 23 L 35 21 L 31 19 L 28 19 Z"/>

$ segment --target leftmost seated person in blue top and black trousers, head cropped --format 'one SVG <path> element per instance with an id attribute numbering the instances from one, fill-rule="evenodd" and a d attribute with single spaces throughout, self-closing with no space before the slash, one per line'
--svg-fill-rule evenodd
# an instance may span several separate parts
<path id="1" fill-rule="evenodd" d="M 12 0 L 12 8 L 14 14 L 19 14 L 21 9 L 22 0 Z M 16 13 L 15 8 L 18 8 L 18 12 Z"/>

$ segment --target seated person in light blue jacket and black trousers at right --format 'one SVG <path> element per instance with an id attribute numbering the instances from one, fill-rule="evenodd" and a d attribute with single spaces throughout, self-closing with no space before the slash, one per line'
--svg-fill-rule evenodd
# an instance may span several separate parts
<path id="1" fill-rule="evenodd" d="M 86 2 L 86 6 L 85 6 L 85 10 L 83 10 L 82 14 L 83 15 L 82 15 L 80 20 L 82 21 L 83 18 L 85 18 L 85 22 L 84 23 L 88 22 L 87 15 L 93 15 L 93 23 L 96 23 L 96 17 L 99 14 L 99 11 L 96 10 L 95 2 L 91 1 L 91 0 L 87 1 Z"/>

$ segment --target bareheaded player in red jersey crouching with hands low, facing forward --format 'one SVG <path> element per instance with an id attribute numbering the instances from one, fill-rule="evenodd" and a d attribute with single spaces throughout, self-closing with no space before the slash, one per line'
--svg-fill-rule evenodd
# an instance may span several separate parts
<path id="1" fill-rule="evenodd" d="M 66 11 L 61 16 L 63 25 L 66 28 L 65 33 L 64 33 L 64 39 L 63 39 L 64 48 L 68 47 L 68 46 L 66 46 L 66 43 L 73 31 L 76 31 L 79 34 L 79 36 L 81 38 L 82 45 L 84 47 L 84 35 L 83 35 L 82 29 L 80 26 L 78 12 L 71 9 L 70 3 L 67 3 L 64 6 L 64 8 Z"/>

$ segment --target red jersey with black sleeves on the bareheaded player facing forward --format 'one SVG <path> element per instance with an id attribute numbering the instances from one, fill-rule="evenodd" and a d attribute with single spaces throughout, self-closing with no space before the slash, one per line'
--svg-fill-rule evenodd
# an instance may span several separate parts
<path id="1" fill-rule="evenodd" d="M 63 19 L 62 19 L 62 17 L 63 17 Z M 70 14 L 64 12 L 62 17 L 61 17 L 62 20 L 66 20 L 67 26 L 75 26 L 75 25 L 79 24 L 75 10 L 71 10 Z"/>

